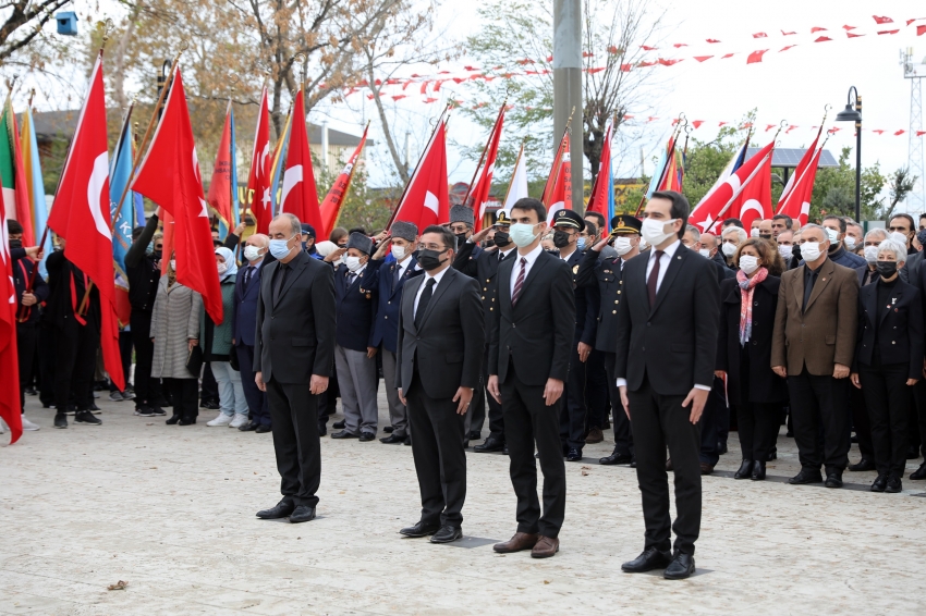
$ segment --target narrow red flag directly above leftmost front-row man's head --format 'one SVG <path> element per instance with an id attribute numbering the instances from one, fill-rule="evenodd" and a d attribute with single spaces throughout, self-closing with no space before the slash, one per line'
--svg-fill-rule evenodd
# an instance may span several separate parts
<path id="1" fill-rule="evenodd" d="M 318 237 L 328 237 L 318 209 L 318 193 L 315 173 L 312 170 L 312 153 L 308 150 L 308 133 L 305 126 L 305 103 L 302 89 L 296 93 L 293 104 L 293 125 L 290 128 L 290 149 L 283 172 L 283 194 L 280 211 L 295 214 L 300 222 L 315 227 Z"/>

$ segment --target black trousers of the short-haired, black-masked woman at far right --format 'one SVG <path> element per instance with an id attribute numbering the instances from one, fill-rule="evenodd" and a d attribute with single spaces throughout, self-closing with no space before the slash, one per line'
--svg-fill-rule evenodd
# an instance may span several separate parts
<path id="1" fill-rule="evenodd" d="M 860 364 L 858 378 L 872 420 L 872 444 L 878 475 L 903 477 L 910 418 L 909 364 Z"/>

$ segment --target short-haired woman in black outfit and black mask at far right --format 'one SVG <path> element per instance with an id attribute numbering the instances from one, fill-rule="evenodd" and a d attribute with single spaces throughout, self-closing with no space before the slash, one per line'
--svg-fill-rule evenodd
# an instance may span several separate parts
<path id="1" fill-rule="evenodd" d="M 885 239 L 878 246 L 878 280 L 858 291 L 858 342 L 852 384 L 862 390 L 872 422 L 878 478 L 872 492 L 897 493 L 906 467 L 911 387 L 923 370 L 923 300 L 900 280 L 906 246 Z"/>

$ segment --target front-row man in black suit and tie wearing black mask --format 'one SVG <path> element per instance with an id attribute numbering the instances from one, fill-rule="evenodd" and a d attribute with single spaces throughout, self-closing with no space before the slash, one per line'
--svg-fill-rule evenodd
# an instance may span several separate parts
<path id="1" fill-rule="evenodd" d="M 412 454 L 422 492 L 422 518 L 400 532 L 434 534 L 431 543 L 463 537 L 466 498 L 464 415 L 479 386 L 486 344 L 476 281 L 452 269 L 456 238 L 428 226 L 418 245 L 425 274 L 402 294 L 395 387 L 409 408 Z"/>

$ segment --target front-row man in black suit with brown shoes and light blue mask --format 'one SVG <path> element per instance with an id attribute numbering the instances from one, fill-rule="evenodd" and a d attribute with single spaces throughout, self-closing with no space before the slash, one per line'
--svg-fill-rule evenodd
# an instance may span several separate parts
<path id="1" fill-rule="evenodd" d="M 503 405 L 511 483 L 517 496 L 517 532 L 495 545 L 499 553 L 532 550 L 535 558 L 559 551 L 565 515 L 565 466 L 559 436 L 563 383 L 575 330 L 572 272 L 544 251 L 547 209 L 537 199 L 511 207 L 517 254 L 499 267 L 499 309 L 489 335 L 489 393 Z M 544 471 L 544 515 L 537 500 L 534 444 Z"/>

